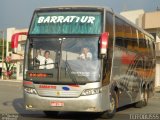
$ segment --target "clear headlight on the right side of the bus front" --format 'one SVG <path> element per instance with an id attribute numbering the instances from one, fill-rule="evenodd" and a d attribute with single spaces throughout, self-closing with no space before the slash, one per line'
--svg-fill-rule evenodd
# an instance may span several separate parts
<path id="1" fill-rule="evenodd" d="M 86 89 L 82 92 L 81 95 L 86 96 L 86 95 L 94 95 L 102 92 L 102 88 L 92 88 L 92 89 Z"/>

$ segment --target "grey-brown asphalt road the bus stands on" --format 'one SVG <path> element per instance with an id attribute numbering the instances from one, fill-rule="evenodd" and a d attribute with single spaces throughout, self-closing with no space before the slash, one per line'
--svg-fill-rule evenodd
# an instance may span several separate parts
<path id="1" fill-rule="evenodd" d="M 128 105 L 118 109 L 112 120 L 160 120 L 160 93 L 149 99 L 148 106 L 135 108 Z M 0 80 L 0 120 L 101 120 L 92 113 L 60 112 L 58 116 L 46 117 L 42 111 L 26 111 L 23 107 L 22 82 Z"/>

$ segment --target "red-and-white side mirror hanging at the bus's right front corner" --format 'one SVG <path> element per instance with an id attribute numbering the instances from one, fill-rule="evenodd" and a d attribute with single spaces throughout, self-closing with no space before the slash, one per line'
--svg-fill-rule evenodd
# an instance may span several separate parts
<path id="1" fill-rule="evenodd" d="M 105 55 L 108 48 L 109 32 L 104 32 L 100 37 L 100 54 Z"/>

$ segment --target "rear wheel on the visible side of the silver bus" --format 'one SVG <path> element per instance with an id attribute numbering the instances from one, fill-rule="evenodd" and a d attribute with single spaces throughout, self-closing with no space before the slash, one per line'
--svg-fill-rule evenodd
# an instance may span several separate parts
<path id="1" fill-rule="evenodd" d="M 142 96 L 142 100 L 135 104 L 135 107 L 137 107 L 137 108 L 141 108 L 141 107 L 147 106 L 148 98 L 149 98 L 148 90 L 147 89 L 143 89 L 141 96 Z"/>

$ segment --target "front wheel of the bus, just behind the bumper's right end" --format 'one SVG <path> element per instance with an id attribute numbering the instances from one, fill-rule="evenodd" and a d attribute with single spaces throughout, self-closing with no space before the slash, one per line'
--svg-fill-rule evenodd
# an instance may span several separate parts
<path id="1" fill-rule="evenodd" d="M 116 108 L 117 108 L 117 103 L 118 103 L 116 92 L 113 92 L 111 94 L 110 101 L 111 101 L 110 102 L 111 110 L 107 110 L 107 111 L 103 112 L 101 114 L 101 118 L 110 119 L 110 118 L 113 118 L 113 116 L 115 115 Z"/>

